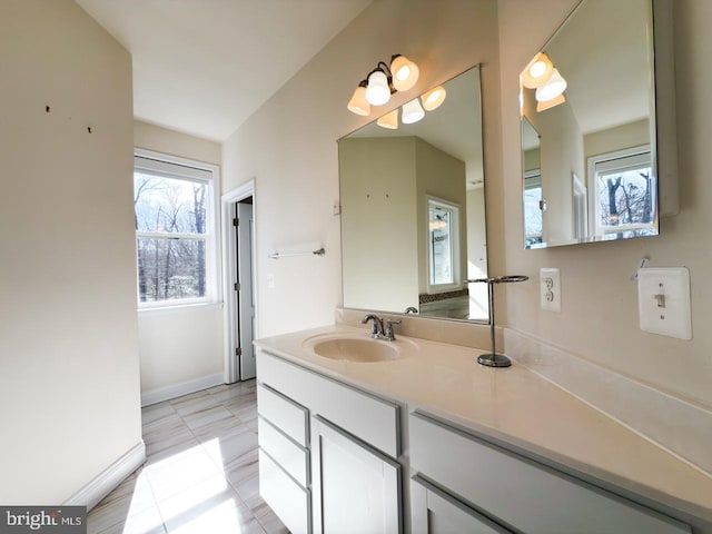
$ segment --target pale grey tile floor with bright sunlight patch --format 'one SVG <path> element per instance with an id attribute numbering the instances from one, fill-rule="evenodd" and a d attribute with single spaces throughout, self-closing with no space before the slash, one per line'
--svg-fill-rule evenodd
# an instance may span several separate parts
<path id="1" fill-rule="evenodd" d="M 288 533 L 259 496 L 255 380 L 142 411 L 148 459 L 99 503 L 89 534 Z"/>

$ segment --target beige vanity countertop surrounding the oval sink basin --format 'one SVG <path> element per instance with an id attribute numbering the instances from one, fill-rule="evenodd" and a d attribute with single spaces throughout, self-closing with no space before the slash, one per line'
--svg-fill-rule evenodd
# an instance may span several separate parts
<path id="1" fill-rule="evenodd" d="M 333 325 L 263 338 L 255 345 L 338 380 L 421 408 L 564 468 L 712 522 L 712 476 L 554 384 L 513 363 L 476 364 L 483 350 L 427 339 L 408 357 L 353 363 L 316 355 L 314 336 L 366 330 Z M 396 342 L 398 343 L 398 342 Z"/>

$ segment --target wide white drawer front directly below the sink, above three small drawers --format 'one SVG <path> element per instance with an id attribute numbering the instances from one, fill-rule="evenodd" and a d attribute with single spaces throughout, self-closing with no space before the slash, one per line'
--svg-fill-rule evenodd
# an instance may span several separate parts
<path id="1" fill-rule="evenodd" d="M 257 354 L 257 379 L 307 406 L 312 415 L 322 415 L 379 451 L 393 457 L 400 454 L 399 408 L 395 403 L 264 350 Z"/>

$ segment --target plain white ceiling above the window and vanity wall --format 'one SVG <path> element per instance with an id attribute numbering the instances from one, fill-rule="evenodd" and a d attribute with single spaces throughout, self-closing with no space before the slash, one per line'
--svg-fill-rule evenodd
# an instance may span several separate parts
<path id="1" fill-rule="evenodd" d="M 134 58 L 137 119 L 222 141 L 372 0 L 76 0 Z"/>

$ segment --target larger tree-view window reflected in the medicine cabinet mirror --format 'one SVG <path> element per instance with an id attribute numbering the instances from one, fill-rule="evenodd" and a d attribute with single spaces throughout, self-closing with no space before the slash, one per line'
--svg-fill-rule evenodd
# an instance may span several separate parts
<path id="1" fill-rule="evenodd" d="M 656 180 L 649 147 L 589 159 L 596 236 L 616 239 L 657 235 Z"/>

